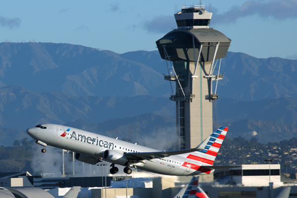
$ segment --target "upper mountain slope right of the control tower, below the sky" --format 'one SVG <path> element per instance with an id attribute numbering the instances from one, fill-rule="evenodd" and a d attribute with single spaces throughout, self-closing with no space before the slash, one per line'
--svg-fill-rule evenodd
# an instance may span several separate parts
<path id="1" fill-rule="evenodd" d="M 218 94 L 244 101 L 297 97 L 297 60 L 279 57 L 255 58 L 228 52 L 222 59 Z"/>

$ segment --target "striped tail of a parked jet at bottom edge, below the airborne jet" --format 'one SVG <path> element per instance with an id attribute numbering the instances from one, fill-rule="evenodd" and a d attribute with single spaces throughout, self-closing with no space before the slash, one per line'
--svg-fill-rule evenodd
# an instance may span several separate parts
<path id="1" fill-rule="evenodd" d="M 209 198 L 207 194 L 198 187 L 199 177 L 193 176 L 190 183 L 187 184 L 174 198 Z"/>

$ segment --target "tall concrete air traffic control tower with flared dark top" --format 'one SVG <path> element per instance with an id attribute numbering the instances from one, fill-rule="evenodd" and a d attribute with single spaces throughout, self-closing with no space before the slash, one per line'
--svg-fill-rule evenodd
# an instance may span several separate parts
<path id="1" fill-rule="evenodd" d="M 176 102 L 179 149 L 195 148 L 212 133 L 212 101 L 231 40 L 209 28 L 212 13 L 204 5 L 182 6 L 174 16 L 178 29 L 156 44 L 167 63 L 165 80 L 175 81 L 170 99 Z"/>

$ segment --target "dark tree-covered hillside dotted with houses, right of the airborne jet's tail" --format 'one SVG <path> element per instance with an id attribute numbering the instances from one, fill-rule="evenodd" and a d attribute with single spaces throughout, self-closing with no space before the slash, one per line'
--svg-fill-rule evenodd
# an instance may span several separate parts
<path id="1" fill-rule="evenodd" d="M 297 138 L 283 140 L 279 143 L 258 143 L 256 138 L 246 140 L 242 137 L 225 138 L 215 164 L 235 165 L 264 163 L 264 159 L 273 159 L 272 164 L 281 164 L 281 172 L 295 173 L 297 169 Z"/>

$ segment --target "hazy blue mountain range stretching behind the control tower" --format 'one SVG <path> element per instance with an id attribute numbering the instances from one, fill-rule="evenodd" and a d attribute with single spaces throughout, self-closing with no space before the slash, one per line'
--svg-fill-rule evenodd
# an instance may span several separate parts
<path id="1" fill-rule="evenodd" d="M 230 126 L 236 137 L 249 138 L 252 131 L 261 134 L 255 136 L 261 142 L 294 137 L 296 68 L 297 60 L 228 52 L 215 121 Z M 141 142 L 140 136 L 162 140 L 160 134 L 174 140 L 175 102 L 168 99 L 166 73 L 158 51 L 118 54 L 71 44 L 0 43 L 0 145 L 27 137 L 25 129 L 39 123 L 117 133 L 132 142 Z"/>

